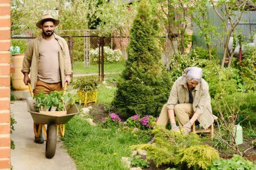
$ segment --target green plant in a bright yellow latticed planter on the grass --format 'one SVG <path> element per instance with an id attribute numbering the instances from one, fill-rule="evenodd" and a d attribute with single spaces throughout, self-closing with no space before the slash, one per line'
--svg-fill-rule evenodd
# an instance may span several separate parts
<path id="1" fill-rule="evenodd" d="M 73 88 L 77 89 L 77 95 L 84 106 L 97 101 L 98 79 L 95 76 L 79 77 L 73 83 Z"/>

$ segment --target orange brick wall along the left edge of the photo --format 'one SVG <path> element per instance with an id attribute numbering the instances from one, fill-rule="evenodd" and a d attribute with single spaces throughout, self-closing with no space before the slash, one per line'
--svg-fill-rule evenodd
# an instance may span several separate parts
<path id="1" fill-rule="evenodd" d="M 11 0 L 0 0 L 0 169 L 11 169 L 10 44 Z"/>

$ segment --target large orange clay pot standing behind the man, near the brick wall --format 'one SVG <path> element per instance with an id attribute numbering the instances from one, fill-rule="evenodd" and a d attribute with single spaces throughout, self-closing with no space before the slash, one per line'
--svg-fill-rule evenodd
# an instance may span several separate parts
<path id="1" fill-rule="evenodd" d="M 21 72 L 24 54 L 12 54 L 12 63 L 15 72 L 12 73 L 12 88 L 15 91 L 29 91 L 28 86 L 24 84 L 24 75 Z"/>

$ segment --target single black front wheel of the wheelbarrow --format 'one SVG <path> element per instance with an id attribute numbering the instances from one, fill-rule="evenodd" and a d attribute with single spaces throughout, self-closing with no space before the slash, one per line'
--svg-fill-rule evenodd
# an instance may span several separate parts
<path id="1" fill-rule="evenodd" d="M 56 143 L 57 143 L 57 127 L 56 124 L 49 124 L 47 126 L 47 140 L 45 147 L 45 157 L 53 158 L 56 151 Z"/>

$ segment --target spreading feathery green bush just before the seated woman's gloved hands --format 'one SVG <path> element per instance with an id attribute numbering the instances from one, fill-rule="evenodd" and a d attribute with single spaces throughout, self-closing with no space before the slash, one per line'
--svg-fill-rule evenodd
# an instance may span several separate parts
<path id="1" fill-rule="evenodd" d="M 147 159 L 154 161 L 156 167 L 179 163 L 177 155 L 181 148 L 201 144 L 201 139 L 194 133 L 183 135 L 181 132 L 167 130 L 161 126 L 156 126 L 152 133 L 155 138 L 153 144 L 139 144 L 131 147 L 148 151 Z"/>

